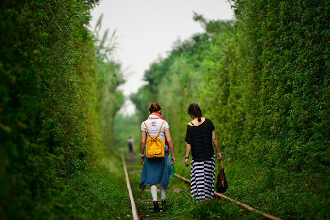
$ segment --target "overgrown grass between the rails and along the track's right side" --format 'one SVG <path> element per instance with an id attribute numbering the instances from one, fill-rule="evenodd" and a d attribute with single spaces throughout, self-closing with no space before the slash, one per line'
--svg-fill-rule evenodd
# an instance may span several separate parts
<path id="1" fill-rule="evenodd" d="M 179 152 L 179 147 L 175 147 Z M 122 150 L 126 151 L 127 149 L 122 148 Z M 327 196 L 329 183 L 327 181 L 313 181 L 313 176 L 320 174 L 307 174 L 311 176 L 311 179 L 306 179 L 302 174 L 287 173 L 275 168 L 266 169 L 264 165 L 255 165 L 249 160 L 226 158 L 226 151 L 223 155 L 229 185 L 227 192 L 224 193 L 226 196 L 283 219 L 324 219 L 323 217 L 327 215 L 330 204 L 330 199 Z M 134 158 L 126 157 L 127 167 L 133 168 L 129 172 L 131 187 L 138 211 L 148 215 L 152 213 L 150 209 L 152 204 L 144 204 L 142 200 L 151 199 L 151 194 L 149 186 L 146 187 L 145 191 L 139 189 L 142 165 L 138 156 Z M 177 153 L 176 173 L 190 179 L 190 167 L 185 167 L 183 161 L 184 155 Z M 215 173 L 217 173 L 217 169 Z M 182 192 L 177 192 L 178 189 Z M 322 193 L 319 193 L 319 189 L 322 189 Z M 159 191 L 158 198 L 160 198 Z M 224 199 L 196 203 L 191 199 L 190 185 L 176 177 L 170 180 L 167 201 L 169 210 L 159 216 L 160 218 L 191 220 L 264 219 L 261 215 L 249 213 L 237 204 Z"/>

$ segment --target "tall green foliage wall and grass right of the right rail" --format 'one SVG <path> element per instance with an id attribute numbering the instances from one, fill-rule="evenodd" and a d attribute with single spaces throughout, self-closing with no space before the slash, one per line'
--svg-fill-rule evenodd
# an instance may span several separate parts
<path id="1" fill-rule="evenodd" d="M 197 102 L 214 122 L 224 158 L 237 169 L 231 196 L 286 218 L 325 218 L 330 3 L 231 3 L 233 25 L 195 15 L 205 33 L 176 43 L 167 58 L 154 62 L 145 73 L 148 84 L 131 99 L 141 120 L 151 102 L 161 104 L 181 155 L 187 108 Z"/>

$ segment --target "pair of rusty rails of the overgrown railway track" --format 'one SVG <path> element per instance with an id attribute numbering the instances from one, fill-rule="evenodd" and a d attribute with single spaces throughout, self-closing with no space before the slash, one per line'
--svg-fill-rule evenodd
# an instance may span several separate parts
<path id="1" fill-rule="evenodd" d="M 125 172 L 125 178 L 126 178 L 126 185 L 127 185 L 127 189 L 128 189 L 128 193 L 129 193 L 129 196 L 130 196 L 130 201 L 131 201 L 131 208 L 132 208 L 132 217 L 133 217 L 133 220 L 161 220 L 161 219 L 156 219 L 154 217 L 156 216 L 160 216 L 162 214 L 159 214 L 159 215 L 155 215 L 154 213 L 150 213 L 150 214 L 147 214 L 146 216 L 144 215 L 139 215 L 139 213 L 137 212 L 137 209 L 136 209 L 136 204 L 135 204 L 135 201 L 134 201 L 134 197 L 133 197 L 133 193 L 132 193 L 132 189 L 131 189 L 131 185 L 130 185 L 130 180 L 129 180 L 129 177 L 128 177 L 128 172 L 127 172 L 127 167 L 126 167 L 126 163 L 125 163 L 125 157 L 124 157 L 124 154 L 122 153 L 121 154 L 121 158 L 122 158 L 122 162 L 123 162 L 123 168 L 124 168 L 124 172 Z M 176 177 L 180 178 L 181 180 L 183 180 L 184 182 L 186 183 L 190 183 L 190 180 L 187 179 L 187 178 L 184 178 L 183 176 L 181 175 L 178 175 L 178 174 L 174 174 Z M 252 208 L 251 206 L 248 206 L 247 204 L 244 204 L 244 203 L 241 203 L 237 200 L 234 200 L 228 196 L 225 196 L 221 193 L 217 193 L 216 191 L 214 191 L 214 195 L 219 197 L 219 198 L 222 198 L 222 199 L 225 199 L 225 200 L 229 200 L 231 202 L 234 202 L 236 203 L 237 205 L 239 205 L 240 207 L 250 211 L 250 212 L 255 212 L 255 213 L 258 213 L 260 215 L 262 215 L 264 218 L 266 219 L 270 219 L 270 220 L 282 220 L 281 218 L 278 218 L 276 216 L 273 216 L 273 215 L 270 215 L 270 214 L 267 214 L 267 213 L 264 213 L 262 211 L 259 211 L 255 208 Z M 143 203 L 151 203 L 152 200 L 144 200 Z M 161 202 L 161 200 L 158 201 L 159 203 Z M 161 212 L 162 212 L 162 208 L 160 208 Z M 151 209 L 150 209 L 151 211 Z"/>

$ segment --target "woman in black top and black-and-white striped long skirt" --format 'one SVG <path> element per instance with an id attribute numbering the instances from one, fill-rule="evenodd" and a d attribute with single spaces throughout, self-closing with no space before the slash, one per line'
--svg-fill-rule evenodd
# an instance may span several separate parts
<path id="1" fill-rule="evenodd" d="M 217 151 L 217 159 L 221 158 L 218 141 L 215 137 L 211 120 L 202 117 L 198 104 L 193 103 L 188 108 L 188 114 L 193 121 L 188 123 L 185 141 L 187 150 L 184 164 L 188 167 L 191 151 L 191 196 L 196 202 L 214 197 L 215 157 L 212 142 Z"/>

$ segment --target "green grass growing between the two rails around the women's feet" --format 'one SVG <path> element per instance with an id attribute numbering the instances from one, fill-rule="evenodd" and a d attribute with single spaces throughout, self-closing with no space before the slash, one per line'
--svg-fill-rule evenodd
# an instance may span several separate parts
<path id="1" fill-rule="evenodd" d="M 123 148 L 124 149 L 124 148 Z M 126 149 L 125 149 L 126 150 Z M 181 158 L 181 157 L 179 157 Z M 184 161 L 184 160 L 182 160 Z M 189 175 L 186 175 L 190 179 L 190 168 L 184 168 L 183 162 L 177 161 L 175 165 L 176 170 L 189 170 Z M 149 185 L 146 186 L 144 191 L 139 189 L 140 174 L 142 170 L 142 164 L 139 161 L 139 157 L 126 157 L 126 163 L 129 170 L 131 187 L 134 195 L 137 209 L 140 214 L 145 215 L 147 218 L 149 214 L 153 213 L 151 207 L 152 203 L 143 203 L 144 200 L 152 199 Z M 178 172 L 177 172 L 178 173 Z M 182 175 L 182 173 L 179 173 Z M 158 189 L 158 199 L 160 199 L 160 191 Z M 225 200 L 211 200 L 196 203 L 190 195 L 190 185 L 183 182 L 179 178 L 170 180 L 167 189 L 167 203 L 169 209 L 156 217 L 164 219 L 184 219 L 184 220 L 200 220 L 200 219 L 263 219 L 259 214 L 249 213 L 248 211 L 240 208 L 234 203 Z M 148 217 L 149 218 L 149 217 Z"/>

